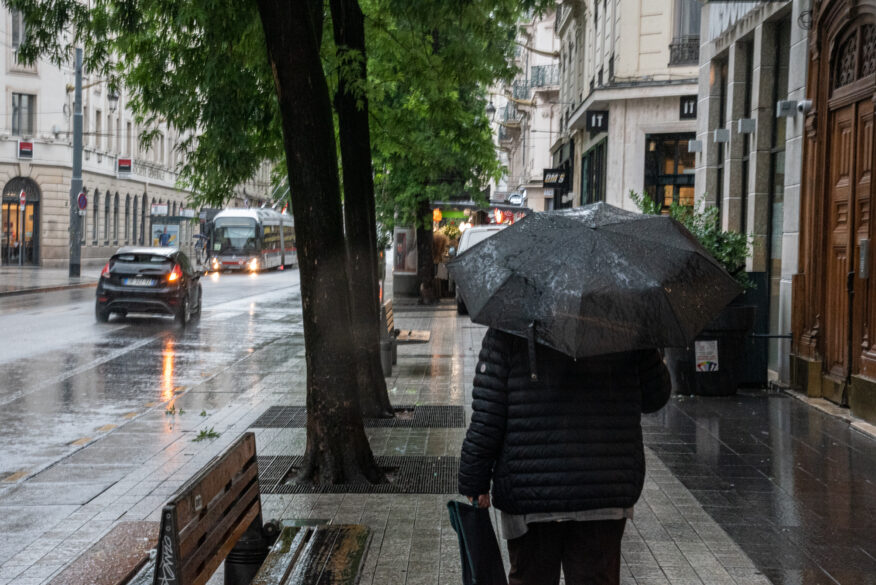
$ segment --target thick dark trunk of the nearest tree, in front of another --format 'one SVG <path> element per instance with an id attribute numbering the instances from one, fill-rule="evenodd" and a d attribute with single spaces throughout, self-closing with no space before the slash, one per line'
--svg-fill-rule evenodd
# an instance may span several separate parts
<path id="1" fill-rule="evenodd" d="M 307 445 L 298 479 L 383 475 L 365 436 L 350 337 L 347 250 L 331 100 L 320 60 L 320 0 L 258 0 L 274 74 L 295 217 L 307 364 Z"/>

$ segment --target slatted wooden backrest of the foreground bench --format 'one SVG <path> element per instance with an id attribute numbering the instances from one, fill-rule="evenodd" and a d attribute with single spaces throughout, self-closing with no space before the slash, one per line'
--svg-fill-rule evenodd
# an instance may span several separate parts
<path id="1" fill-rule="evenodd" d="M 164 506 L 154 585 L 203 585 L 261 522 L 255 435 L 244 433 Z"/>

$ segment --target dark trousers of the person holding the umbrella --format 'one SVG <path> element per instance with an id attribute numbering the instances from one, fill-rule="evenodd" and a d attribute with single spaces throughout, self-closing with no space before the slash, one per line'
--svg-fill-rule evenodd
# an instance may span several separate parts
<path id="1" fill-rule="evenodd" d="M 619 585 L 626 520 L 534 522 L 508 541 L 508 585 Z"/>

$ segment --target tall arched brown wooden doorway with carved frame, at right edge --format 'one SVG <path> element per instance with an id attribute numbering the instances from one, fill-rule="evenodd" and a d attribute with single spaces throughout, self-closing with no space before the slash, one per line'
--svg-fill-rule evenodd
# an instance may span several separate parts
<path id="1" fill-rule="evenodd" d="M 876 0 L 816 3 L 809 49 L 792 375 L 876 420 Z"/>

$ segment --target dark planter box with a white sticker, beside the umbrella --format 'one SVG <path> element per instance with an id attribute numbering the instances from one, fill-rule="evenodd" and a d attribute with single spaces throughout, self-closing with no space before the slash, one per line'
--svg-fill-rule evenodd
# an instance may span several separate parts
<path id="1" fill-rule="evenodd" d="M 743 367 L 745 337 L 756 308 L 729 305 L 697 336 L 693 347 L 666 349 L 666 365 L 676 394 L 730 396 Z"/>

